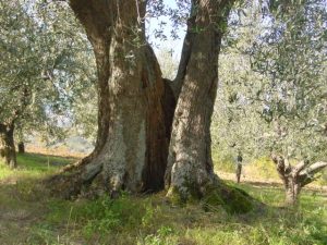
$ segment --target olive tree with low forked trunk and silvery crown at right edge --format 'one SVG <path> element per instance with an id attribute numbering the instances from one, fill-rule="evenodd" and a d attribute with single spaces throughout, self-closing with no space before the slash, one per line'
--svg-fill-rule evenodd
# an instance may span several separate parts
<path id="1" fill-rule="evenodd" d="M 259 48 L 254 51 L 254 69 L 268 77 L 257 91 L 257 99 L 264 106 L 262 115 L 272 126 L 266 142 L 289 204 L 295 204 L 301 188 L 327 166 L 323 134 L 326 21 L 324 1 L 296 4 L 274 19 L 271 32 L 262 36 L 256 44 Z M 299 163 L 292 166 L 288 159 L 296 159 Z"/>

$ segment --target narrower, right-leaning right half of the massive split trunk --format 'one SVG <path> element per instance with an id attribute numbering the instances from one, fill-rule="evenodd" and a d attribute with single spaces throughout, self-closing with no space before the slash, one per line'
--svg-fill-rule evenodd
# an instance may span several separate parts
<path id="1" fill-rule="evenodd" d="M 166 185 L 168 196 L 201 198 L 217 181 L 211 160 L 210 121 L 218 83 L 218 56 L 232 1 L 193 1 L 183 77 L 172 124 Z M 192 34 L 190 34 L 192 33 Z M 178 91 L 178 89 L 175 89 Z M 196 99 L 194 99 L 196 98 Z"/>

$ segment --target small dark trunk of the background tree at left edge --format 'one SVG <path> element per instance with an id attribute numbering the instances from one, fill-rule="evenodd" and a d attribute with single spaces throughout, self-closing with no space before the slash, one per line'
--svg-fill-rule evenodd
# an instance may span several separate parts
<path id="1" fill-rule="evenodd" d="M 0 124 L 0 158 L 11 169 L 17 167 L 13 123 L 10 125 Z"/>

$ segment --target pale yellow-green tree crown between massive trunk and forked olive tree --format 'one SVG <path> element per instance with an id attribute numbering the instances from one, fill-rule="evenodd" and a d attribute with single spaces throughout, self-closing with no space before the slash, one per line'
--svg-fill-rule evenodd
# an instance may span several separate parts
<path id="1" fill-rule="evenodd" d="M 251 99 L 252 89 L 259 86 L 263 75 L 252 70 L 249 53 L 257 36 L 264 32 L 262 22 L 258 3 L 234 9 L 229 17 L 218 64 L 219 84 L 211 124 L 211 147 L 218 166 L 234 166 L 239 151 L 243 163 L 263 157 L 259 137 L 267 125 L 261 121 L 259 106 Z"/>

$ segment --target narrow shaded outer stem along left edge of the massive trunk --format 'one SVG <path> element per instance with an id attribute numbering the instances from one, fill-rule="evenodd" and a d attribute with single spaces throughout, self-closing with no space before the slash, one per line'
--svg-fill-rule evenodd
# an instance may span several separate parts
<path id="1" fill-rule="evenodd" d="M 75 170 L 76 167 L 83 167 L 89 163 L 102 149 L 109 133 L 109 77 L 110 61 L 109 48 L 111 42 L 111 25 L 113 16 L 112 3 L 100 0 L 71 0 L 70 5 L 74 13 L 84 25 L 88 40 L 90 41 L 97 64 L 97 93 L 98 93 L 98 130 L 97 140 L 94 151 L 72 166 L 68 166 L 63 171 Z"/>

